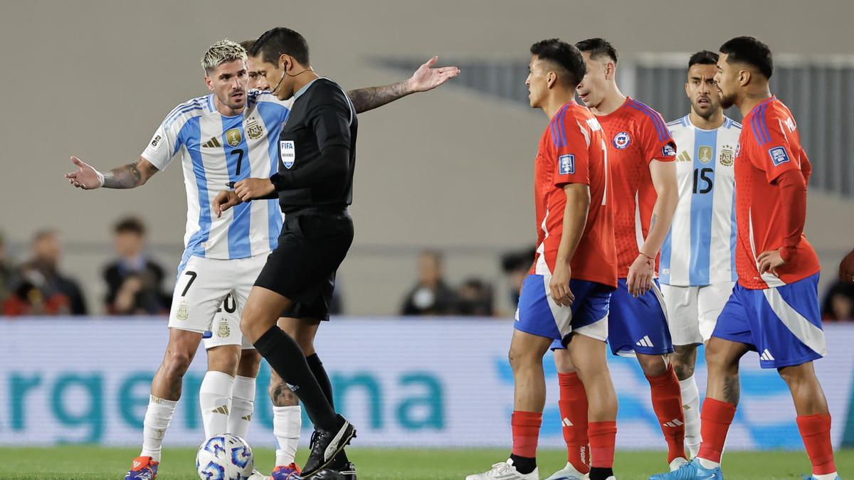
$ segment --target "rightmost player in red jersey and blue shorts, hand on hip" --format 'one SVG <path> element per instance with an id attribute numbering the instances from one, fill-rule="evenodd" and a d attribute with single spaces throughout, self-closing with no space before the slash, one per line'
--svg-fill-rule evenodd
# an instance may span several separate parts
<path id="1" fill-rule="evenodd" d="M 820 266 L 804 237 L 811 166 L 792 112 L 769 90 L 768 45 L 737 37 L 721 45 L 715 77 L 721 106 L 737 106 L 744 127 L 735 153 L 735 266 L 738 284 L 706 348 L 708 386 L 699 454 L 651 480 L 722 479 L 721 454 L 739 401 L 739 361 L 759 353 L 792 392 L 798 430 L 813 480 L 839 476 L 830 442 L 830 413 L 813 360 L 826 353 L 818 304 Z"/>

